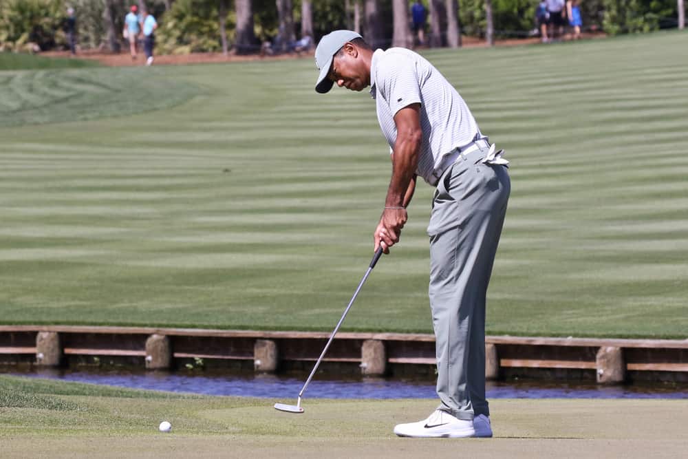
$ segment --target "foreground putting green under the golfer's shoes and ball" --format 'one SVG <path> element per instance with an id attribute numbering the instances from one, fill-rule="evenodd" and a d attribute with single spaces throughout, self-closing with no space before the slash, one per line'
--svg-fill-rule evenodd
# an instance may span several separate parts
<path id="1" fill-rule="evenodd" d="M 675 458 L 688 447 L 685 400 L 498 399 L 495 438 L 422 440 L 391 429 L 427 416 L 433 401 L 306 398 L 305 413 L 286 414 L 266 399 L 8 376 L 0 388 L 3 458 Z M 171 434 L 158 433 L 161 420 Z"/>

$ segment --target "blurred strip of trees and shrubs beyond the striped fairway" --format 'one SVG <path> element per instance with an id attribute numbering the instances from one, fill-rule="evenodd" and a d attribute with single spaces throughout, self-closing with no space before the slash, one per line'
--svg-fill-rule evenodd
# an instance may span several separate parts
<path id="1" fill-rule="evenodd" d="M 132 7 L 156 19 L 163 54 L 299 52 L 338 28 L 375 47 L 459 47 L 467 37 L 557 41 L 685 21 L 683 0 L 0 0 L 0 51 L 127 52 Z"/>

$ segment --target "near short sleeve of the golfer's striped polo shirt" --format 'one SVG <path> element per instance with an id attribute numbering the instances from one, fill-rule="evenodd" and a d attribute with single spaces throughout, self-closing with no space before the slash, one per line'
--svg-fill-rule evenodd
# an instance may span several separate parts
<path id="1" fill-rule="evenodd" d="M 411 59 L 398 54 L 385 56 L 378 63 L 377 72 L 378 92 L 389 105 L 392 116 L 404 107 L 422 103 L 416 65 Z"/>

